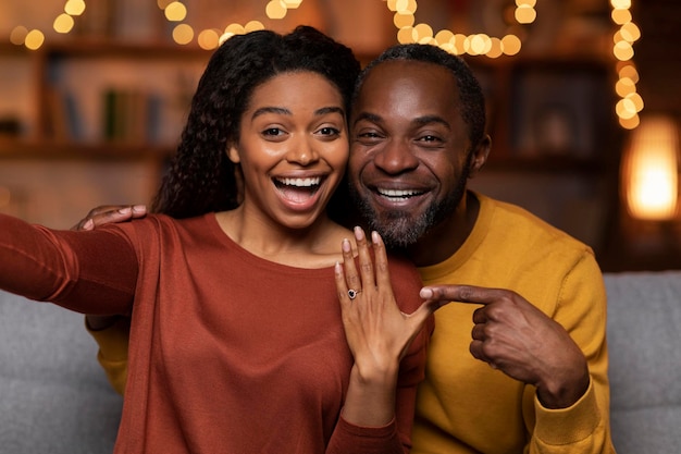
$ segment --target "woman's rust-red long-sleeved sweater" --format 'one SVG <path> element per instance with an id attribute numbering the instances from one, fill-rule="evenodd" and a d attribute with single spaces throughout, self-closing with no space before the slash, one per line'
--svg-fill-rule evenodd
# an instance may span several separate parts
<path id="1" fill-rule="evenodd" d="M 396 418 L 340 418 L 352 357 L 333 268 L 263 260 L 213 213 L 55 232 L 0 216 L 0 287 L 89 314 L 132 314 L 116 453 L 403 453 L 432 324 L 403 360 Z M 416 269 L 391 259 L 405 312 Z"/>

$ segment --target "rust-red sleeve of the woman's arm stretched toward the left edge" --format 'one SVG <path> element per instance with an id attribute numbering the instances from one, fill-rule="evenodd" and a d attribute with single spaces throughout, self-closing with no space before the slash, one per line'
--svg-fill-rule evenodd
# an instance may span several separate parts
<path id="1" fill-rule="evenodd" d="M 55 231 L 0 214 L 0 289 L 87 314 L 128 314 L 132 244 L 114 230 Z"/>

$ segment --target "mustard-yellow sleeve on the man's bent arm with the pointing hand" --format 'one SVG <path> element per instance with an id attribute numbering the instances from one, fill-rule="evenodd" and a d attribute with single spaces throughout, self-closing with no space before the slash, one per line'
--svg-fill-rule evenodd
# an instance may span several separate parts
<path id="1" fill-rule="evenodd" d="M 568 408 L 545 408 L 534 392 L 525 393 L 525 417 L 530 413 L 536 418 L 529 453 L 615 453 L 609 424 L 606 293 L 590 251 L 564 280 L 554 318 L 584 353 L 591 380 L 585 394 Z"/>

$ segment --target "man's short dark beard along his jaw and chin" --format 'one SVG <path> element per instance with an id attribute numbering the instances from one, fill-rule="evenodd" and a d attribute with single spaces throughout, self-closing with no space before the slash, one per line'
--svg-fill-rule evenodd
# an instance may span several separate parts
<path id="1" fill-rule="evenodd" d="M 456 187 L 444 199 L 428 206 L 424 212 L 413 217 L 405 210 L 383 210 L 380 217 L 367 198 L 362 198 L 357 189 L 349 184 L 352 203 L 371 230 L 381 234 L 388 249 L 407 248 L 414 245 L 429 231 L 447 220 L 457 209 L 466 194 L 468 165 L 463 168 Z"/>

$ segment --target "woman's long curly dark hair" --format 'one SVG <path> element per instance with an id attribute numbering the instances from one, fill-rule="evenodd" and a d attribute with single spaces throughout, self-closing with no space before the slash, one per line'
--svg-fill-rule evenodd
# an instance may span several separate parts
<path id="1" fill-rule="evenodd" d="M 222 44 L 199 81 L 152 211 L 188 218 L 236 208 L 240 172 L 226 149 L 239 139 L 242 114 L 256 87 L 277 74 L 300 71 L 334 84 L 349 113 L 360 64 L 348 47 L 315 28 L 299 26 L 287 35 L 258 30 Z"/>

